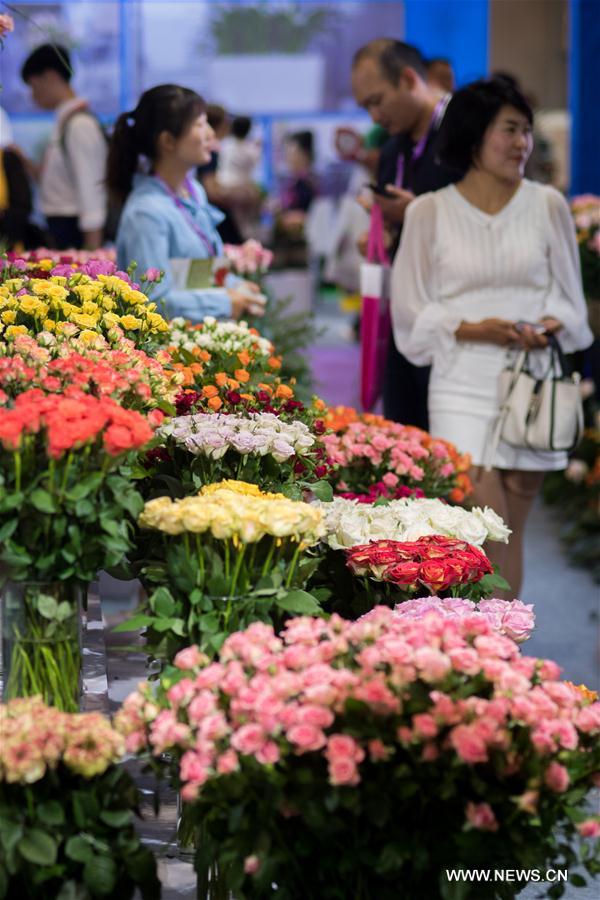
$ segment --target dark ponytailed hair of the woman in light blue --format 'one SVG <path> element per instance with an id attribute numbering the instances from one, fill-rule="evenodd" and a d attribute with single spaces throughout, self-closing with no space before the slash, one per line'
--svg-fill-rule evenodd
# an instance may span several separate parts
<path id="1" fill-rule="evenodd" d="M 177 84 L 160 84 L 140 97 L 136 108 L 115 122 L 108 149 L 106 184 L 117 201 L 131 192 L 140 156 L 150 163 L 157 157 L 163 131 L 179 138 L 194 119 L 206 111 L 202 97 Z"/>

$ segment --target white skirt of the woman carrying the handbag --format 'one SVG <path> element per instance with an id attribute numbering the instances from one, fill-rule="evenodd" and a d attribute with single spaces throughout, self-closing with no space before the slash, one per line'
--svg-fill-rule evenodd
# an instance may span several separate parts
<path id="1" fill-rule="evenodd" d="M 458 344 L 442 371 L 434 362 L 429 382 L 429 428 L 434 437 L 452 441 L 482 466 L 499 409 L 499 378 L 509 352 L 491 344 Z M 437 371 L 436 371 L 437 369 Z M 493 465 L 497 469 L 552 472 L 567 466 L 563 451 L 528 450 L 501 441 Z"/>

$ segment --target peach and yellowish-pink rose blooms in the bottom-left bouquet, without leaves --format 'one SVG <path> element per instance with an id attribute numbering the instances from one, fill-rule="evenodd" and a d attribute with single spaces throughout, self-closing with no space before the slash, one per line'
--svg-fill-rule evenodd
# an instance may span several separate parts
<path id="1" fill-rule="evenodd" d="M 92 778 L 125 752 L 123 737 L 100 713 L 64 713 L 39 697 L 0 706 L 0 783 L 32 784 L 60 764 Z"/>

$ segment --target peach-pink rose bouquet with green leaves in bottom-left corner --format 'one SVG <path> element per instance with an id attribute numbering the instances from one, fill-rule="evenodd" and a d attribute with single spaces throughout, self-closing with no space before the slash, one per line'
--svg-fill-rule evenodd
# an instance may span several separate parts
<path id="1" fill-rule="evenodd" d="M 0 706 L 0 896 L 160 896 L 133 826 L 138 793 L 117 766 L 124 742 L 99 713 L 39 697 Z"/>

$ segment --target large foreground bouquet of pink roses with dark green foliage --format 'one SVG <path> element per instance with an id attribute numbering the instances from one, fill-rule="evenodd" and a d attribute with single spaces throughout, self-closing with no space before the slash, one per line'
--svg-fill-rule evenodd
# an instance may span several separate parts
<path id="1" fill-rule="evenodd" d="M 600 835 L 600 703 L 482 616 L 256 623 L 175 662 L 116 724 L 201 824 L 199 884 L 216 862 L 240 898 L 420 900 L 473 860 L 600 867 L 572 843 Z"/>

